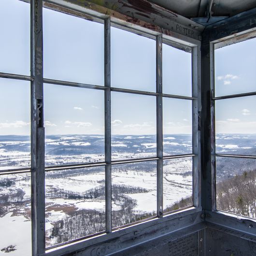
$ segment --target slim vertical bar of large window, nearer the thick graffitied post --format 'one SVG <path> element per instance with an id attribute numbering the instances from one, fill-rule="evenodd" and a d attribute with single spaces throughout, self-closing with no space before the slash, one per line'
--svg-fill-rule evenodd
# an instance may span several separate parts
<path id="1" fill-rule="evenodd" d="M 104 85 L 105 89 L 105 200 L 106 232 L 112 230 L 112 184 L 111 184 L 111 66 L 110 66 L 110 17 L 104 20 Z"/>

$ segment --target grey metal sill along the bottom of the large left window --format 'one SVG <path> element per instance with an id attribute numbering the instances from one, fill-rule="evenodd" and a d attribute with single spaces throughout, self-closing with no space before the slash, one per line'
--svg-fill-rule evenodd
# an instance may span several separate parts
<path id="1" fill-rule="evenodd" d="M 70 241 L 64 245 L 59 244 L 55 248 L 46 250 L 46 255 L 60 256 L 77 251 L 85 251 L 85 255 L 91 255 L 94 251 L 100 250 L 95 255 L 103 256 L 128 248 L 130 242 L 135 245 L 200 222 L 202 222 L 201 209 L 190 207 L 179 212 L 170 213 L 162 218 L 156 217 L 142 223 L 118 228 L 109 234 L 103 233 L 82 238 L 76 242 Z"/>

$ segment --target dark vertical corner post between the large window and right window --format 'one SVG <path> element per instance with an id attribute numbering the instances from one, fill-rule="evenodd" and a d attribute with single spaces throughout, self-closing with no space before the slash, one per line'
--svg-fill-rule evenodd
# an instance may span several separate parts
<path id="1" fill-rule="evenodd" d="M 211 73 L 213 65 L 213 48 L 210 42 L 201 45 L 201 205 L 203 210 L 212 211 L 215 208 L 215 168 L 212 162 L 212 146 L 214 143 L 212 127 L 214 109 L 211 104 Z M 211 140 L 211 141 L 210 141 Z"/>

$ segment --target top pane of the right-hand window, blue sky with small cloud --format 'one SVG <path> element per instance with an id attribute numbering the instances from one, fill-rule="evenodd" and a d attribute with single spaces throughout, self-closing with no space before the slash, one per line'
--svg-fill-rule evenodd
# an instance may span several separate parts
<path id="1" fill-rule="evenodd" d="M 256 38 L 214 52 L 215 96 L 256 91 Z"/>

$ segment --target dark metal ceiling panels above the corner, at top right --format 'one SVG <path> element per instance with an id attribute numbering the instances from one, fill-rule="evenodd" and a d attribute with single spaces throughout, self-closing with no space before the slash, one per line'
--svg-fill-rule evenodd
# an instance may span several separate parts
<path id="1" fill-rule="evenodd" d="M 187 18 L 207 16 L 212 0 L 149 0 Z M 256 7 L 256 0 L 213 0 L 212 16 L 233 16 Z"/>

